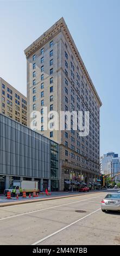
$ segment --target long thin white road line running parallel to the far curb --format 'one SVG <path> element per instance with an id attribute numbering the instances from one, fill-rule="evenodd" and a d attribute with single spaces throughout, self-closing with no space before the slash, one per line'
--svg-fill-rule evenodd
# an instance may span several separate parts
<path id="1" fill-rule="evenodd" d="M 102 197 L 102 196 L 98 196 L 98 197 Z M 0 218 L 0 221 L 7 220 L 9 218 L 15 218 L 15 217 L 27 215 L 27 214 L 33 214 L 34 212 L 45 211 L 45 210 L 57 208 L 57 207 L 60 207 L 60 206 L 65 206 L 65 205 L 68 205 L 68 204 L 75 204 L 75 203 L 87 201 L 87 200 L 94 199 L 94 198 L 97 198 L 97 197 L 90 197 L 90 198 L 79 200 L 79 201 L 75 201 L 75 202 L 72 202 L 72 203 L 55 205 L 55 206 L 51 206 L 51 207 L 48 207 L 48 208 L 45 208 L 45 209 L 41 209 L 41 210 L 29 211 L 29 212 L 25 212 L 24 214 L 17 214 L 17 215 L 13 215 L 13 216 L 9 216 L 9 217 L 4 217 L 4 218 Z"/>

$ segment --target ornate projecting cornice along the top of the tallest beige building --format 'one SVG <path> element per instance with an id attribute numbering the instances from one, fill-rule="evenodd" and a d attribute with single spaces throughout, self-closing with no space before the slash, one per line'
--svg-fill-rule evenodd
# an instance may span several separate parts
<path id="1" fill-rule="evenodd" d="M 69 42 L 71 49 L 79 62 L 81 71 L 83 72 L 83 74 L 86 78 L 86 82 L 89 84 L 94 96 L 96 97 L 99 107 L 102 106 L 102 102 L 100 101 L 97 91 L 92 83 L 89 73 L 87 72 L 84 62 L 81 59 L 78 49 L 75 46 L 75 43 L 72 39 L 70 31 L 68 30 L 68 27 L 67 27 L 63 17 L 58 22 L 56 22 L 52 27 L 50 27 L 44 34 L 42 34 L 37 40 L 35 40 L 33 42 L 33 44 L 28 46 L 26 48 L 26 50 L 24 50 L 26 57 L 29 58 L 31 56 L 31 54 L 34 54 L 37 50 L 39 50 L 43 45 L 45 45 L 49 40 L 53 39 L 54 36 L 60 32 L 62 32 L 64 34 L 65 38 Z"/>

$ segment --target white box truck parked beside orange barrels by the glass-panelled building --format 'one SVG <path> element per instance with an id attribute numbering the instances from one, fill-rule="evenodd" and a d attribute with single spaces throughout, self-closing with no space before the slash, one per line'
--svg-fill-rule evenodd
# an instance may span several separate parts
<path id="1" fill-rule="evenodd" d="M 38 181 L 14 180 L 13 185 L 4 190 L 4 194 L 7 196 L 7 192 L 11 192 L 11 196 L 15 196 L 16 194 L 22 194 L 23 191 L 26 191 L 26 193 L 39 192 Z"/>

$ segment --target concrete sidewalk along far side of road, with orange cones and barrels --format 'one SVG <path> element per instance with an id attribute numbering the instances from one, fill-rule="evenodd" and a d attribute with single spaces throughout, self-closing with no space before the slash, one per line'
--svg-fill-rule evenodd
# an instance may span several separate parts
<path id="1" fill-rule="evenodd" d="M 46 194 L 45 195 L 40 194 L 39 197 L 31 197 L 31 198 L 19 197 L 18 199 L 16 199 L 16 197 L 13 197 L 11 199 L 6 199 L 5 196 L 0 195 L 0 207 L 17 205 L 17 204 L 27 204 L 27 203 L 67 198 L 67 197 L 77 197 L 77 196 L 83 196 L 85 194 L 93 194 L 93 193 L 100 193 L 100 192 L 102 191 L 97 190 L 97 191 L 90 191 L 90 192 L 52 192 L 50 196 L 46 196 Z"/>

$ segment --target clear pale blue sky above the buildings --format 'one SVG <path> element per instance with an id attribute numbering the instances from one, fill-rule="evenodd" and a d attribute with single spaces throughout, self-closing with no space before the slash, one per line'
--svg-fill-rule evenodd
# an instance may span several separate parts
<path id="1" fill-rule="evenodd" d="M 0 0 L 0 77 L 27 94 L 24 49 L 62 16 L 103 103 L 100 155 L 120 155 L 120 1 Z"/>

